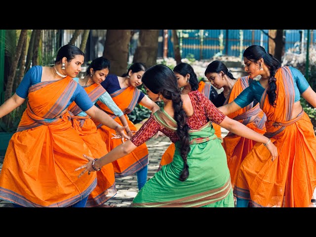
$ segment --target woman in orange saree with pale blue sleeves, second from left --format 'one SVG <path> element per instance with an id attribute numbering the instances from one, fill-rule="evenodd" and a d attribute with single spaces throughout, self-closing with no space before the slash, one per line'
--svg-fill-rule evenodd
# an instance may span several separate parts
<path id="1" fill-rule="evenodd" d="M 91 101 L 101 101 L 106 104 L 119 118 L 122 124 L 127 125 L 127 121 L 123 116 L 123 112 L 114 103 L 111 96 L 103 88 L 100 83 L 105 80 L 110 70 L 110 61 L 104 57 L 94 59 L 87 71 L 86 76 L 82 79 L 74 78 L 88 94 Z M 94 157 L 104 156 L 108 153 L 105 142 L 102 140 L 100 133 L 91 118 L 83 112 L 79 106 L 73 102 L 68 110 L 74 115 L 71 117 L 74 129 L 79 133 L 82 140 L 86 143 Z M 126 133 L 130 131 L 128 125 Z M 105 165 L 100 172 L 97 173 L 97 187 L 88 197 L 86 207 L 100 206 L 110 198 L 117 194 L 115 186 L 115 177 L 113 164 Z"/>

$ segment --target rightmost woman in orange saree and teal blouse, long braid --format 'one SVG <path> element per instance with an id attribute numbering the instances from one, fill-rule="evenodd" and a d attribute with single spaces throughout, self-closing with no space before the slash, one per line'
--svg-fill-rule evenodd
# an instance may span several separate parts
<path id="1" fill-rule="evenodd" d="M 316 188 L 316 137 L 300 94 L 316 107 L 316 93 L 302 73 L 281 64 L 260 45 L 243 53 L 251 83 L 237 98 L 219 109 L 231 114 L 254 99 L 267 116 L 265 136 L 277 147 L 271 158 L 257 143 L 244 158 L 237 174 L 237 207 L 308 207 Z M 314 197 L 315 198 L 315 197 Z"/>

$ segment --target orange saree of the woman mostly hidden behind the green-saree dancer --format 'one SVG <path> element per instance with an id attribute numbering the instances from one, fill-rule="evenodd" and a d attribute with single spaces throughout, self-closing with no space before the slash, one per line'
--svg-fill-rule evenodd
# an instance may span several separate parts
<path id="1" fill-rule="evenodd" d="M 203 93 L 207 98 L 209 98 L 210 93 L 211 93 L 211 86 L 212 86 L 211 83 L 205 83 L 204 81 L 200 81 L 198 83 L 197 89 L 198 91 Z M 222 138 L 221 126 L 213 122 L 212 122 L 212 125 L 213 125 L 213 128 L 215 129 L 215 135 L 218 138 Z M 167 150 L 163 153 L 157 171 L 159 171 L 163 165 L 169 164 L 172 161 L 175 149 L 176 148 L 175 148 L 174 143 L 171 143 L 170 146 L 167 148 Z"/>

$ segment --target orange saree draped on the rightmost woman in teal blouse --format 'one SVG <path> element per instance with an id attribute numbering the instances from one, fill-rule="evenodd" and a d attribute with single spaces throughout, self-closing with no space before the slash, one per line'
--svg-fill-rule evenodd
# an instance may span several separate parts
<path id="1" fill-rule="evenodd" d="M 316 187 L 316 137 L 308 115 L 292 117 L 294 85 L 288 67 L 276 72 L 276 107 L 267 90 L 260 101 L 267 115 L 266 136 L 277 147 L 278 157 L 257 143 L 240 165 L 234 195 L 251 200 L 255 207 L 308 207 Z"/>

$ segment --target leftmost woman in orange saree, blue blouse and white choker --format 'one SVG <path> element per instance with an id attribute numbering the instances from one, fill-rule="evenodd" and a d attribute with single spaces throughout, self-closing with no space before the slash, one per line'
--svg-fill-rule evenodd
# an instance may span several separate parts
<path id="1" fill-rule="evenodd" d="M 1 199 L 25 207 L 85 206 L 97 179 L 92 174 L 80 180 L 74 172 L 78 164 L 85 162 L 82 154 L 91 152 L 73 129 L 67 108 L 76 101 L 91 117 L 103 122 L 109 117 L 93 105 L 73 80 L 83 60 L 79 48 L 64 45 L 53 67 L 32 67 L 16 93 L 1 105 L 0 118 L 28 97 L 27 109 L 4 157 Z M 115 121 L 107 123 L 112 127 L 118 125 Z M 121 134 L 124 128 L 118 129 Z"/>

